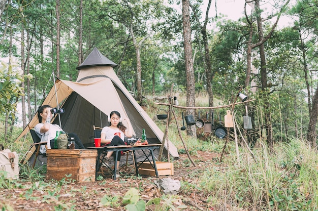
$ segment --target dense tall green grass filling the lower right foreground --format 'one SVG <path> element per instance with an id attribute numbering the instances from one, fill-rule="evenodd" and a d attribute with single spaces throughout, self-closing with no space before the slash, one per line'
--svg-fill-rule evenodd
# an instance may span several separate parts
<path id="1" fill-rule="evenodd" d="M 230 155 L 225 167 L 210 167 L 203 173 L 200 188 L 214 198 L 213 205 L 248 210 L 318 209 L 315 150 L 291 139 L 277 144 L 272 154 L 265 147 L 254 151 L 256 162 L 242 150 L 239 165 Z"/>

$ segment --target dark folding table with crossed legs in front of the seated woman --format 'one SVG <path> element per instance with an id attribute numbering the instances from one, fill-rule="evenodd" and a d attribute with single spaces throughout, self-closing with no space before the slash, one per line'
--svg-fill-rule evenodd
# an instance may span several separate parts
<path id="1" fill-rule="evenodd" d="M 134 153 L 134 161 L 135 161 L 135 168 L 136 168 L 136 175 L 138 175 L 138 167 L 148 160 L 152 167 L 154 168 L 155 175 L 158 177 L 157 166 L 155 164 L 155 157 L 153 155 L 153 151 L 155 149 L 160 148 L 162 144 L 147 144 L 147 145 L 119 145 L 119 146 L 105 146 L 105 147 L 87 147 L 87 149 L 96 149 L 97 150 L 97 159 L 96 159 L 96 177 L 98 176 L 98 172 L 100 171 L 100 167 L 102 166 L 103 160 L 107 154 L 107 152 L 113 151 L 115 153 L 115 162 L 114 162 L 114 171 L 107 165 L 107 167 L 113 171 L 114 177 L 113 179 L 116 180 L 116 172 L 117 172 L 117 160 L 118 160 L 118 153 L 121 151 L 128 151 L 132 150 Z M 143 154 L 146 158 L 137 163 L 136 159 L 136 150 L 142 150 Z M 152 162 L 149 159 L 149 156 L 152 158 Z"/>

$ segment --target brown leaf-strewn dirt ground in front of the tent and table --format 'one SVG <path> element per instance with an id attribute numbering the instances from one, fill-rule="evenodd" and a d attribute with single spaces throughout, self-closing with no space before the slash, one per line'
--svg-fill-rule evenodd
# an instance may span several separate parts
<path id="1" fill-rule="evenodd" d="M 179 154 L 179 156 L 179 159 L 174 161 L 173 176 L 138 179 L 120 177 L 116 181 L 105 178 L 90 183 L 63 184 L 61 188 L 43 187 L 41 183 L 21 184 L 23 185 L 21 188 L 0 189 L 0 207 L 3 207 L 2 210 L 125 210 L 124 206 L 102 205 L 101 199 L 105 195 L 122 197 L 132 187 L 140 190 L 140 199 L 145 202 L 151 198 L 162 197 L 163 192 L 153 183 L 155 180 L 171 178 L 194 183 L 204 168 L 213 165 L 220 155 L 198 151 L 197 155 L 192 155 L 196 166 L 193 166 L 186 154 Z M 217 210 L 216 207 L 208 204 L 208 196 L 199 190 L 194 189 L 189 193 L 181 188 L 176 196 L 177 200 L 173 201 L 173 206 L 185 205 L 187 208 L 183 210 Z M 120 199 L 119 204 L 121 204 Z M 72 205 L 75 207 L 72 208 Z M 154 207 L 146 207 L 146 210 L 154 210 Z"/>

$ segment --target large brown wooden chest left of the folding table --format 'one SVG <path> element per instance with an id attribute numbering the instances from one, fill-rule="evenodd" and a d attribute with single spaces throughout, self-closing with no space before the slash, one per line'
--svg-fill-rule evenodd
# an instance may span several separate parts
<path id="1" fill-rule="evenodd" d="M 71 177 L 77 182 L 94 182 L 97 150 L 48 149 L 46 179 L 61 180 Z M 68 179 L 69 179 L 68 178 Z"/>

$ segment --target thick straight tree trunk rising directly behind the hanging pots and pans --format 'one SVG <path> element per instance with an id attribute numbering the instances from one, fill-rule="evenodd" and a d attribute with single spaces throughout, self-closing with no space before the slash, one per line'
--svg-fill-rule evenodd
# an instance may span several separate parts
<path id="1" fill-rule="evenodd" d="M 195 95 L 195 77 L 193 68 L 191 26 L 190 26 L 190 3 L 189 0 L 182 0 L 182 24 L 183 24 L 183 45 L 184 61 L 186 74 L 186 106 L 194 107 L 196 105 Z M 194 109 L 186 111 L 187 115 L 195 115 Z M 187 135 L 196 137 L 195 125 L 187 127 Z"/>

